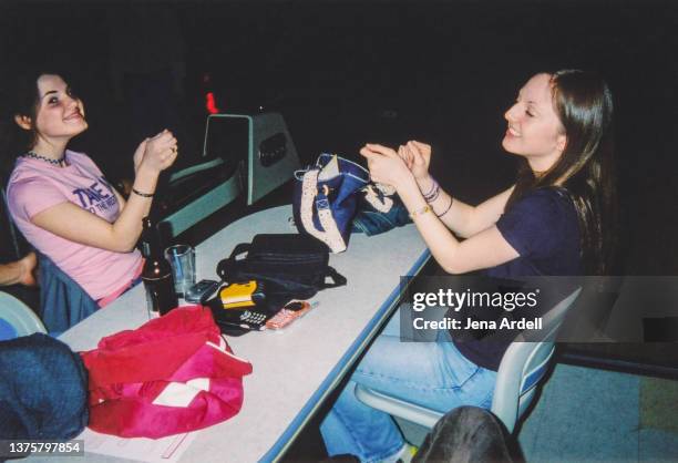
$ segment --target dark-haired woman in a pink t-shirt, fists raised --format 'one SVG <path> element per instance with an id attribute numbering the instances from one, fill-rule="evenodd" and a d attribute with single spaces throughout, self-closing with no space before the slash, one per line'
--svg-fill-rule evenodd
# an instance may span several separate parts
<path id="1" fill-rule="evenodd" d="M 104 306 L 141 274 L 134 246 L 157 178 L 177 156 L 168 131 L 140 143 L 127 200 L 83 153 L 66 150 L 88 128 L 84 105 L 61 75 L 37 73 L 11 95 L 10 116 L 24 138 L 8 184 L 9 209 L 40 253 Z"/>

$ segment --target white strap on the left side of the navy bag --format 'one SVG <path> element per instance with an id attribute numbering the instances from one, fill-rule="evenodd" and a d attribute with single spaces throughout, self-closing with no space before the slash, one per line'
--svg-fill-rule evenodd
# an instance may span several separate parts
<path id="1" fill-rule="evenodd" d="M 310 169 L 304 174 L 299 212 L 301 225 L 309 235 L 325 243 L 332 253 L 341 253 L 346 250 L 346 241 L 339 233 L 339 228 L 337 228 L 337 222 L 332 217 L 327 195 L 318 192 L 319 172 L 318 169 Z M 314 199 L 318 209 L 318 219 L 323 230 L 317 229 L 314 224 Z"/>

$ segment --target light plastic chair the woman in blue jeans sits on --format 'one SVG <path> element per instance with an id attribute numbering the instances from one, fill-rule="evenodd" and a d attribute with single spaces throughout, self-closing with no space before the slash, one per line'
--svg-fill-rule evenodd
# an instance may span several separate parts
<path id="1" fill-rule="evenodd" d="M 518 336 L 504 353 L 496 374 L 490 410 L 502 420 L 508 432 L 513 432 L 516 421 L 532 403 L 537 385 L 546 374 L 548 361 L 553 357 L 556 333 L 581 291 L 582 288 L 576 289 L 543 316 L 540 342 L 531 342 L 528 338 Z M 356 387 L 356 397 L 373 409 L 429 429 L 433 428 L 444 414 L 361 384 Z"/>

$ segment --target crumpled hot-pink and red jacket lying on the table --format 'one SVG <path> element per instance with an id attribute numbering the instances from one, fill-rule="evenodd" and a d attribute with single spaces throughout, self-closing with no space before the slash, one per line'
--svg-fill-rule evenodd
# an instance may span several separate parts
<path id="1" fill-rule="evenodd" d="M 233 356 L 212 312 L 201 306 L 104 338 L 81 357 L 90 373 L 89 426 L 123 438 L 158 439 L 227 420 L 239 412 L 243 375 L 251 373 L 251 364 Z M 187 403 L 153 403 L 167 388 L 196 378 L 207 379 L 208 387 Z"/>

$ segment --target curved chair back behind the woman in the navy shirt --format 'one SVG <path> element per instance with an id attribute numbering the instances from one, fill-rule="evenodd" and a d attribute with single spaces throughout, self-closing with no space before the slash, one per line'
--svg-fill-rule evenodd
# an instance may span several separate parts
<path id="1" fill-rule="evenodd" d="M 544 313 L 538 341 L 531 341 L 530 335 L 521 335 L 504 353 L 496 374 L 491 410 L 504 422 L 508 432 L 513 432 L 517 418 L 527 409 L 537 384 L 546 374 L 558 328 L 581 291 L 582 288 L 577 288 Z"/>

